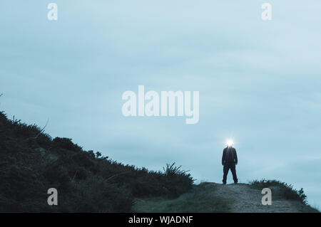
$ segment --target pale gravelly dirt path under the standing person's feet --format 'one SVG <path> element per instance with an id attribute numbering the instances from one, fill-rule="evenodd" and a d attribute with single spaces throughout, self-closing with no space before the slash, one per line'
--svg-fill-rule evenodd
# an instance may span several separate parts
<path id="1" fill-rule="evenodd" d="M 213 187 L 213 196 L 231 199 L 231 212 L 266 213 L 266 212 L 302 212 L 293 201 L 273 201 L 270 206 L 263 206 L 261 199 L 264 196 L 258 189 L 252 189 L 248 184 L 215 184 L 208 183 L 206 187 Z M 273 193 L 272 193 L 273 194 Z"/>

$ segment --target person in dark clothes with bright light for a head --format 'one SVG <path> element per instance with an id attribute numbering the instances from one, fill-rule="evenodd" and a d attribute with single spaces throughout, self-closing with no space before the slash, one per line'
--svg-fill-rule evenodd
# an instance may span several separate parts
<path id="1" fill-rule="evenodd" d="M 223 150 L 222 157 L 223 168 L 223 184 L 226 184 L 226 178 L 228 176 L 228 170 L 233 174 L 234 184 L 238 184 L 238 177 L 236 176 L 235 165 L 238 164 L 238 155 L 236 154 L 236 150 L 232 147 L 232 144 L 228 144 L 228 147 L 225 147 Z"/>

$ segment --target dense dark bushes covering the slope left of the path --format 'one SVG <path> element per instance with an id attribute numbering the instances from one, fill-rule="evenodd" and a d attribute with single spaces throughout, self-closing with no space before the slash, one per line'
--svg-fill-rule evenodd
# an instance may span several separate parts
<path id="1" fill-rule="evenodd" d="M 193 179 L 174 164 L 148 171 L 86 152 L 0 112 L 0 183 L 0 212 L 128 212 L 134 197 L 179 196 Z M 58 206 L 47 204 L 49 188 Z"/>

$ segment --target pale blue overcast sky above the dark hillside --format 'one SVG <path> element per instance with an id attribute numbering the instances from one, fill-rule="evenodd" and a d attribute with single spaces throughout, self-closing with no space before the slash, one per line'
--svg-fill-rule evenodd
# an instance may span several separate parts
<path id="1" fill-rule="evenodd" d="M 58 4 L 58 21 L 47 5 Z M 321 204 L 321 1 L 1 1 L 0 109 L 84 149 L 221 182 L 279 179 Z M 124 117 L 121 95 L 200 92 L 200 120 Z M 232 176 L 228 176 L 232 182 Z"/>

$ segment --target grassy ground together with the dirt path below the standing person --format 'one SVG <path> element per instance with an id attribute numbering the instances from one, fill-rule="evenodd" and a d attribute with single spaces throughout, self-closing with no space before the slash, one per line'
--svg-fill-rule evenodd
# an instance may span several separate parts
<path id="1" fill-rule="evenodd" d="M 260 189 L 250 184 L 202 183 L 177 199 L 161 197 L 136 199 L 134 212 L 236 212 L 236 213 L 292 213 L 315 212 L 315 209 L 277 196 L 272 188 L 272 205 L 263 206 Z M 275 192 L 273 194 L 273 192 Z"/>

